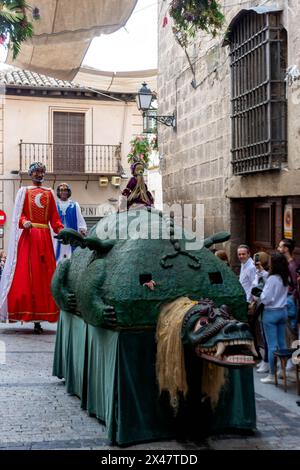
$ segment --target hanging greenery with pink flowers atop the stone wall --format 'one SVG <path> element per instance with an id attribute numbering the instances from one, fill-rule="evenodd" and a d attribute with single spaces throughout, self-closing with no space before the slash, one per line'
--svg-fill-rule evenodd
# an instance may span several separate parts
<path id="1" fill-rule="evenodd" d="M 169 13 L 175 22 L 174 34 L 185 43 L 199 30 L 216 36 L 224 23 L 224 15 L 216 0 L 172 0 Z"/>

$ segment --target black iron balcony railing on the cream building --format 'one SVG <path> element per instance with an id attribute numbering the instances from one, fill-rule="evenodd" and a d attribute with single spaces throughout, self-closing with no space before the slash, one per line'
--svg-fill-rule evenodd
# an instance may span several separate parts
<path id="1" fill-rule="evenodd" d="M 119 175 L 122 172 L 121 144 L 45 144 L 20 141 L 20 173 L 32 162 L 46 165 L 47 173 Z"/>

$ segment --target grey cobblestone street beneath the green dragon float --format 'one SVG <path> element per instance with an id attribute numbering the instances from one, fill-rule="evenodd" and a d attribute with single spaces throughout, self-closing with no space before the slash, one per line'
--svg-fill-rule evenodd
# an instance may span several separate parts
<path id="1" fill-rule="evenodd" d="M 0 326 L 0 449 L 112 449 L 105 427 L 80 408 L 77 397 L 66 393 L 62 380 L 52 377 L 56 326 L 44 328 L 44 334 L 36 336 L 31 324 Z M 258 375 L 254 436 L 211 437 L 202 447 L 164 441 L 130 449 L 300 449 L 295 385 L 289 383 L 285 393 L 282 387 L 261 384 Z"/>

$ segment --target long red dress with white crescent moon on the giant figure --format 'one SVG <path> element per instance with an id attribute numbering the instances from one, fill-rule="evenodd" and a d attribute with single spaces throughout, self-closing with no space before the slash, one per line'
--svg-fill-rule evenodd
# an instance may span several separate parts
<path id="1" fill-rule="evenodd" d="M 24 229 L 23 223 L 32 223 Z M 24 229 L 18 243 L 17 264 L 8 293 L 10 320 L 56 322 L 59 309 L 50 291 L 56 268 L 51 233 L 63 228 L 50 189 L 28 188 L 19 228 Z"/>

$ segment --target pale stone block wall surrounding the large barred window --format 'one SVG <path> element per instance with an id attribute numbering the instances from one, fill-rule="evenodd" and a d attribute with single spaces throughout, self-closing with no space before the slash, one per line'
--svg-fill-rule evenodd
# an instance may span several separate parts
<path id="1" fill-rule="evenodd" d="M 262 4 L 274 6 L 274 3 L 221 2 L 227 25 L 243 8 Z M 276 6 L 284 10 L 282 21 L 288 32 L 288 65 L 300 68 L 299 2 L 279 0 Z M 158 102 L 159 114 L 172 114 L 176 110 L 177 132 L 159 126 L 160 153 L 164 157 L 164 203 L 204 203 L 206 235 L 227 229 L 243 241 L 242 206 L 237 202 L 231 207 L 234 198 L 299 194 L 300 81 L 298 88 L 288 89 L 288 164 L 280 173 L 233 176 L 229 47 L 222 47 L 224 34 L 215 39 L 200 34 L 188 51 L 194 66 L 193 75 L 172 33 L 168 7 L 169 1 L 159 1 Z M 168 23 L 163 27 L 165 16 Z"/>

